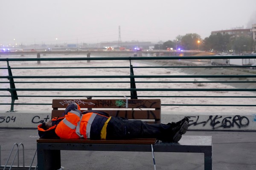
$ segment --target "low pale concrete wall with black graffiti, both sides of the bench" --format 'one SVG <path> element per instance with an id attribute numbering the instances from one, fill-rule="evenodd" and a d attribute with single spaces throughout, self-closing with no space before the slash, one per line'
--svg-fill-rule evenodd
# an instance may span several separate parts
<path id="1" fill-rule="evenodd" d="M 0 111 L 0 128 L 36 128 L 48 121 L 51 111 Z M 162 111 L 162 123 L 177 122 L 189 116 L 189 129 L 194 130 L 256 130 L 256 114 L 253 113 L 186 113 Z"/>

